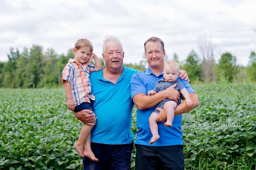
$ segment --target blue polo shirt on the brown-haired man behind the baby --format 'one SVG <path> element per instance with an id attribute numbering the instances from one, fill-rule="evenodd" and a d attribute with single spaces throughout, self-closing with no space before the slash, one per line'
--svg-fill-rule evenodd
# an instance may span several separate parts
<path id="1" fill-rule="evenodd" d="M 156 82 L 161 78 L 163 78 L 162 73 L 156 76 L 149 68 L 145 71 L 134 74 L 131 79 L 132 98 L 139 93 L 145 93 L 148 95 L 148 91 L 153 90 Z M 184 84 L 188 93 L 195 93 L 188 81 L 181 80 L 180 78 L 178 79 Z M 183 96 L 181 95 L 181 97 Z M 149 141 L 152 138 L 152 133 L 149 128 L 148 119 L 155 108 L 156 106 L 144 110 L 137 110 L 137 128 L 139 131 L 137 132 L 135 144 L 147 146 L 183 145 L 182 131 L 180 130 L 182 121 L 181 115 L 174 116 L 172 127 L 165 127 L 164 122 L 157 123 L 160 138 L 154 144 L 149 144 Z"/>

